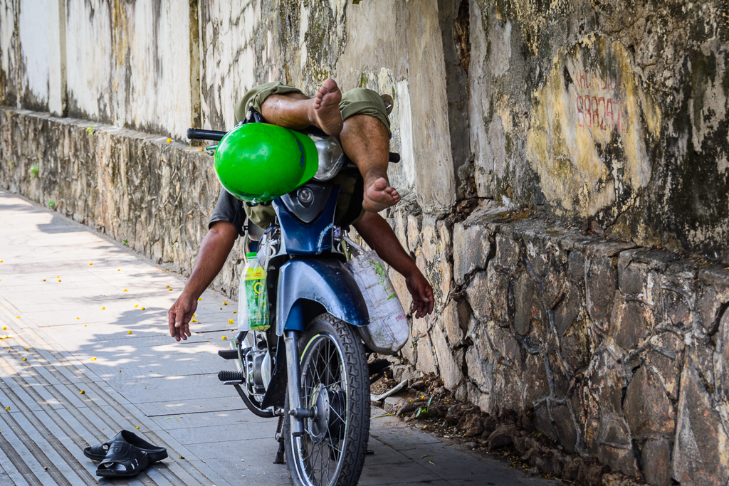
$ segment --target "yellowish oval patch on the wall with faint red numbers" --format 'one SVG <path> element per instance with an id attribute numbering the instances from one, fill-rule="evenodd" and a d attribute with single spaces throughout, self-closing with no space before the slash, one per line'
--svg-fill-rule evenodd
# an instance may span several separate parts
<path id="1" fill-rule="evenodd" d="M 527 157 L 558 212 L 617 212 L 648 184 L 660 111 L 623 44 L 597 36 L 561 50 L 534 99 Z"/>

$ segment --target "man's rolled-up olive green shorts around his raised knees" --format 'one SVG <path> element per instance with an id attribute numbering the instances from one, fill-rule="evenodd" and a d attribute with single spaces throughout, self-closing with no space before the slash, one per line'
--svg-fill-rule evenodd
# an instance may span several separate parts
<path id="1" fill-rule="evenodd" d="M 281 82 L 268 82 L 265 85 L 252 87 L 243 99 L 235 105 L 235 125 L 246 117 L 248 110 L 261 112 L 261 105 L 270 95 L 285 95 L 286 93 L 301 93 L 301 90 L 292 86 L 286 86 Z M 303 94 L 303 93 L 301 93 Z M 339 109 L 342 111 L 342 119 L 354 117 L 356 114 L 367 114 L 380 120 L 390 132 L 390 119 L 387 117 L 387 109 L 382 97 L 376 91 L 367 90 L 364 87 L 356 87 L 342 94 L 342 101 L 339 102 Z"/>

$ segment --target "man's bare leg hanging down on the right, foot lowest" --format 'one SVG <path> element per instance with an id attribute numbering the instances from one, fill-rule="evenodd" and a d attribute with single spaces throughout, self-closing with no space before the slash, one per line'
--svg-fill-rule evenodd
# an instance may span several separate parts
<path id="1" fill-rule="evenodd" d="M 364 179 L 364 210 L 378 213 L 397 204 L 400 195 L 387 179 L 390 138 L 385 125 L 370 115 L 356 114 L 344 121 L 340 143 Z"/>

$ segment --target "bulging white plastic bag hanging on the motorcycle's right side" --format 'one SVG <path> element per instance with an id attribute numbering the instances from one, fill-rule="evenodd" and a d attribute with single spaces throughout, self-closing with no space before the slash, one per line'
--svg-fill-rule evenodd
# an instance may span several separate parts
<path id="1" fill-rule="evenodd" d="M 356 328 L 359 336 L 376 353 L 397 353 L 408 342 L 410 327 L 385 264 L 374 251 L 367 251 L 349 260 L 346 266 L 370 313 L 370 324 Z"/>

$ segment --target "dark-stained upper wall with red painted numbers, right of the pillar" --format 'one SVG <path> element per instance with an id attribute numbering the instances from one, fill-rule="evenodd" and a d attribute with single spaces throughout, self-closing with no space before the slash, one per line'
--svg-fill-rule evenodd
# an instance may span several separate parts
<path id="1" fill-rule="evenodd" d="M 725 2 L 471 2 L 480 197 L 729 259 Z"/>

